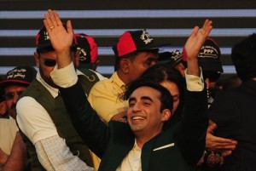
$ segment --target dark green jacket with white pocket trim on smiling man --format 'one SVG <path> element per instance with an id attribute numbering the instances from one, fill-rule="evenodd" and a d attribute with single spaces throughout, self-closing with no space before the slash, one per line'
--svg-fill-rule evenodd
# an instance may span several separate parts
<path id="1" fill-rule="evenodd" d="M 134 145 L 135 137 L 129 125 L 115 121 L 109 122 L 108 126 L 102 123 L 82 94 L 79 83 L 60 90 L 74 127 L 90 150 L 102 158 L 99 170 L 116 170 Z M 208 125 L 206 90 L 186 91 L 184 105 L 180 123 L 143 145 L 143 171 L 195 170 L 205 149 Z M 157 150 L 160 147 L 163 148 Z"/>

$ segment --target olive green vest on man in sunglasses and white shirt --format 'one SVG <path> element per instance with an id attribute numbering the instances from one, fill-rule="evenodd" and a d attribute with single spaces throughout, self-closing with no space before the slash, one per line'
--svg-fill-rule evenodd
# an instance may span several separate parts
<path id="1" fill-rule="evenodd" d="M 92 71 L 90 71 L 92 72 Z M 98 77 L 95 73 L 91 73 L 91 75 L 95 75 L 96 79 L 90 80 L 88 77 L 79 76 L 79 82 L 82 84 L 84 88 L 84 92 L 89 94 L 90 88 L 99 81 Z M 88 76 L 88 74 L 87 74 Z M 90 76 L 91 77 L 91 76 Z M 49 91 L 44 88 L 44 86 L 35 79 L 26 91 L 20 96 L 30 96 L 33 99 L 37 100 L 40 105 L 44 107 L 46 111 L 48 111 L 49 116 L 55 123 L 55 127 L 59 136 L 62 139 L 66 140 L 67 146 L 70 148 L 70 151 L 73 152 L 73 155 L 78 156 L 81 160 L 86 162 L 89 166 L 93 167 L 92 158 L 90 157 L 90 151 L 88 147 L 84 144 L 84 141 L 80 139 L 79 134 L 73 128 L 73 124 L 71 123 L 71 119 L 67 113 L 64 102 L 61 98 L 61 95 L 58 95 L 55 99 L 49 93 Z M 26 170 L 44 170 L 44 167 L 38 161 L 37 152 L 35 146 L 32 142 L 23 134 L 20 130 L 20 134 L 26 143 L 27 153 L 28 153 L 28 161 Z"/>

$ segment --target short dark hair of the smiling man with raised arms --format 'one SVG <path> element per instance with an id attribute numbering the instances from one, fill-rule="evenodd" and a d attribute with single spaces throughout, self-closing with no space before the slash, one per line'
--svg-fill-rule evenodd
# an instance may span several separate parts
<path id="1" fill-rule="evenodd" d="M 172 111 L 172 94 L 163 86 L 161 86 L 159 83 L 154 83 L 151 80 L 148 80 L 146 78 L 138 78 L 135 81 L 131 82 L 125 91 L 125 94 L 123 98 L 125 100 L 129 100 L 132 92 L 136 90 L 137 88 L 141 87 L 149 87 L 149 88 L 154 88 L 160 92 L 160 112 L 163 111 L 164 109 L 169 109 Z"/>

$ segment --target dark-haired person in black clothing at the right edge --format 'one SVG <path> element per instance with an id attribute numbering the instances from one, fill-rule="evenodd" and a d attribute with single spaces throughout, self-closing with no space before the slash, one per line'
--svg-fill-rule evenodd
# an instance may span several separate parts
<path id="1" fill-rule="evenodd" d="M 214 134 L 237 140 L 236 149 L 217 170 L 256 170 L 256 34 L 232 47 L 231 60 L 241 85 L 219 94 L 209 109 L 209 118 L 218 125 Z"/>

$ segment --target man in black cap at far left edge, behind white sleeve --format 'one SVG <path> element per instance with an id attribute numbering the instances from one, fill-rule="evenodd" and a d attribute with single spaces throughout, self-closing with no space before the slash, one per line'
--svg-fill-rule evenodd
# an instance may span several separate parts
<path id="1" fill-rule="evenodd" d="M 26 145 L 15 123 L 16 103 L 37 71 L 32 66 L 17 66 L 7 72 L 0 82 L 3 88 L 3 113 L 9 118 L 0 118 L 0 170 L 24 170 L 26 166 Z"/>

